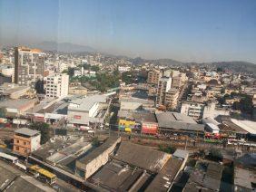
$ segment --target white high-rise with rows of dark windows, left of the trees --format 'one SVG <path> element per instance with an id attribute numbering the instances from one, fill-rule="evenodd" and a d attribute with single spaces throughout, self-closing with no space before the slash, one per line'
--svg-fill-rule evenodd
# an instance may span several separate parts
<path id="1" fill-rule="evenodd" d="M 68 95 L 69 75 L 53 74 L 46 78 L 46 97 L 64 98 Z"/>

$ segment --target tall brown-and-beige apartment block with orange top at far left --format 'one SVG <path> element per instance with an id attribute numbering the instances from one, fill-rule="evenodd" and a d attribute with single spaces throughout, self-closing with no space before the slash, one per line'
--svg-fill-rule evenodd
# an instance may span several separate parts
<path id="1" fill-rule="evenodd" d="M 15 47 L 15 83 L 34 87 L 44 78 L 44 58 L 38 49 Z"/>

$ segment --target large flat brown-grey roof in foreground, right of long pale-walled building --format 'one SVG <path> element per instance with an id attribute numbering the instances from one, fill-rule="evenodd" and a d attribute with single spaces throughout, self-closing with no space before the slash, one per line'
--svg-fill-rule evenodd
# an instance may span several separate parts
<path id="1" fill-rule="evenodd" d="M 139 168 L 159 172 L 171 155 L 143 145 L 123 141 L 114 158 Z"/>

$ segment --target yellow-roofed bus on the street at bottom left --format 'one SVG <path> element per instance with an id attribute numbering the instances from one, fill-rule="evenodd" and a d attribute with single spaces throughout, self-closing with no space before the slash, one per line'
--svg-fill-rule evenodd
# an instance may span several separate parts
<path id="1" fill-rule="evenodd" d="M 56 175 L 44 168 L 40 168 L 38 165 L 31 166 L 29 172 L 34 175 L 34 178 L 42 179 L 45 183 L 50 185 L 56 182 Z"/>

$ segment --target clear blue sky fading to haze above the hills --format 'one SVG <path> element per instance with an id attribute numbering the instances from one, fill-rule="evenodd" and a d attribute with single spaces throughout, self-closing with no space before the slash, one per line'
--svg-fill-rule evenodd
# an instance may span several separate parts
<path id="1" fill-rule="evenodd" d="M 256 63 L 256 0 L 0 0 L 0 44 L 43 41 L 133 57 Z"/>

